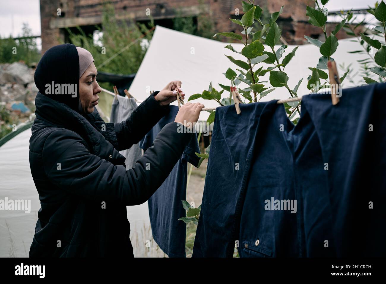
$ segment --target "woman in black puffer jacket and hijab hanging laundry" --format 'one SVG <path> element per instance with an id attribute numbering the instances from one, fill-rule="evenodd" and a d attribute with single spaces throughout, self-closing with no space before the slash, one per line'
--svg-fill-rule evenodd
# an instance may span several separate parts
<path id="1" fill-rule="evenodd" d="M 29 160 L 41 209 L 30 257 L 134 257 L 126 206 L 145 202 L 168 177 L 194 137 L 187 123 L 197 122 L 204 107 L 183 105 L 126 170 L 119 151 L 168 113 L 181 82 L 151 94 L 126 121 L 105 123 L 95 109 L 101 88 L 93 61 L 85 49 L 62 44 L 49 49 L 35 71 Z"/>

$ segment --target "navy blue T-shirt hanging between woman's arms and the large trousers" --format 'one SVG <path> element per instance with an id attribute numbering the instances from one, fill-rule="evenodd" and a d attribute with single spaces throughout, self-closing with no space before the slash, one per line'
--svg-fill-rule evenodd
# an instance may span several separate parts
<path id="1" fill-rule="evenodd" d="M 177 112 L 178 107 L 170 105 L 170 112 L 141 140 L 139 145 L 144 151 L 152 146 L 159 131 L 166 124 L 174 121 Z M 196 152 L 200 153 L 200 147 L 196 133 L 192 133 L 192 139 L 181 159 L 161 187 L 148 200 L 153 238 L 169 257 L 186 257 L 186 224 L 178 219 L 186 216 L 182 201 L 186 200 L 187 163 L 198 166 L 200 158 L 196 156 Z"/>

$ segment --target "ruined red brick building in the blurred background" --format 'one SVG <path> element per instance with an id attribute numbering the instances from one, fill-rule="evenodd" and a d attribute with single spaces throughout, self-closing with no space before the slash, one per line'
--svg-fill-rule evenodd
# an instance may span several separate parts
<path id="1" fill-rule="evenodd" d="M 48 48 L 66 42 L 66 27 L 81 27 L 86 33 L 95 30 L 101 24 L 104 0 L 40 0 L 42 53 Z M 110 0 L 117 14 L 122 19 L 149 21 L 146 9 L 150 9 L 155 24 L 172 28 L 172 19 L 177 17 L 196 17 L 207 13 L 213 20 L 216 32 L 240 32 L 242 27 L 232 23 L 229 18 L 241 19 L 241 0 Z M 273 13 L 284 5 L 284 12 L 278 20 L 283 31 L 283 38 L 288 44 L 306 43 L 304 36 L 318 38 L 321 29 L 308 24 L 306 6 L 314 6 L 313 0 L 255 0 L 265 11 Z M 61 15 L 58 15 L 58 9 Z M 239 9 L 239 15 L 235 15 Z M 266 13 L 267 14 L 267 13 Z M 197 26 L 200 22 L 196 23 Z M 327 24 L 327 31 L 332 31 L 334 23 Z M 344 38 L 345 32 L 340 31 L 338 38 Z M 229 39 L 223 38 L 224 41 Z"/>

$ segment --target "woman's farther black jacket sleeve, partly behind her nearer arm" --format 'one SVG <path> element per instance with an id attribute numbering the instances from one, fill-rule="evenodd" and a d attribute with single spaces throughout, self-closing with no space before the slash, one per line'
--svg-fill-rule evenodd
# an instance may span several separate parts
<path id="1" fill-rule="evenodd" d="M 154 92 L 147 97 L 128 119 L 113 123 L 117 143 L 112 144 L 118 151 L 137 144 L 165 114 L 168 114 L 169 105 L 161 106 L 154 98 L 158 93 Z"/>

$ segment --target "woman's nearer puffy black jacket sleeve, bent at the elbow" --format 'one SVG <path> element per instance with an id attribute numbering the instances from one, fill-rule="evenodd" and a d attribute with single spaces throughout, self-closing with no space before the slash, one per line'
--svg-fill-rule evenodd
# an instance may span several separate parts
<path id="1" fill-rule="evenodd" d="M 126 170 L 91 154 L 78 134 L 60 129 L 44 143 L 43 166 L 48 179 L 69 194 L 137 205 L 161 186 L 192 137 L 185 126 L 170 122 L 134 167 Z"/>

